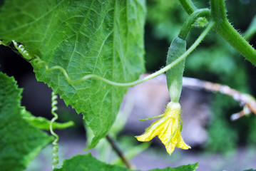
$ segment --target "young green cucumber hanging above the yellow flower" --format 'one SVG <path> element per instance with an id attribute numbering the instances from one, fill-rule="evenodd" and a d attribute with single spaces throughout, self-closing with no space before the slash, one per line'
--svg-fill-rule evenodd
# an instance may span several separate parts
<path id="1" fill-rule="evenodd" d="M 166 65 L 175 61 L 178 57 L 183 55 L 186 51 L 186 41 L 178 36 L 173 38 L 170 48 L 167 53 Z M 180 61 L 166 72 L 167 86 L 170 93 L 170 100 L 179 102 L 180 93 L 183 85 L 183 71 L 185 67 L 185 59 Z"/>

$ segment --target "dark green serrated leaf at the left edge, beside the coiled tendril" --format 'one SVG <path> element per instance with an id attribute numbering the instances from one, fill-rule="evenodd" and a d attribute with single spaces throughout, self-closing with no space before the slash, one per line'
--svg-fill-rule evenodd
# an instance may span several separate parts
<path id="1" fill-rule="evenodd" d="M 26 168 L 52 138 L 30 125 L 21 113 L 22 90 L 14 78 L 0 73 L 0 168 L 20 171 Z"/>

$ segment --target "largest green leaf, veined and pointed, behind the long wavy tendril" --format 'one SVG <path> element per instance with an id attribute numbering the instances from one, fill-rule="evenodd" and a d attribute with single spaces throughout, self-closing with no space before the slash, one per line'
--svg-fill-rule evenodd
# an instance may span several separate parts
<path id="1" fill-rule="evenodd" d="M 116 82 L 135 81 L 144 71 L 145 0 L 6 0 L 0 9 L 0 40 L 23 43 L 49 67 L 71 79 L 94 73 Z M 36 78 L 83 113 L 96 135 L 108 132 L 126 88 L 96 79 L 70 85 L 60 71 L 34 66 Z"/>

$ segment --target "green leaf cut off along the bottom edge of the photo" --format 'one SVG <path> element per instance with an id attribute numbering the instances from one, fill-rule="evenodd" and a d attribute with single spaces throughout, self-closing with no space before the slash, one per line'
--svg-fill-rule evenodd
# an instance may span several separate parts
<path id="1" fill-rule="evenodd" d="M 165 169 L 155 169 L 150 171 L 193 171 L 198 167 L 198 163 L 194 165 L 183 165 L 176 168 L 167 167 Z M 61 169 L 53 171 L 85 171 L 85 170 L 104 170 L 104 171 L 128 171 L 128 169 L 118 165 L 108 165 L 94 158 L 90 153 L 87 155 L 76 155 L 71 159 L 64 160 Z M 137 170 L 139 171 L 139 170 Z"/>

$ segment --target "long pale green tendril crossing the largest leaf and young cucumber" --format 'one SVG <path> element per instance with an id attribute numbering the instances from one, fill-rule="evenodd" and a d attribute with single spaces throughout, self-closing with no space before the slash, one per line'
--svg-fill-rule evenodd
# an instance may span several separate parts
<path id="1" fill-rule="evenodd" d="M 208 26 L 205 28 L 205 30 L 203 31 L 203 33 L 200 34 L 200 36 L 198 37 L 198 39 L 193 43 L 192 46 L 190 46 L 190 48 L 188 48 L 187 51 L 185 51 L 185 53 L 183 53 L 182 56 L 180 56 L 179 58 L 177 58 L 175 61 L 173 61 L 172 63 L 170 63 L 168 66 L 165 66 L 164 68 L 156 71 L 155 73 L 150 74 L 149 76 L 146 76 L 145 78 L 142 78 L 140 80 L 137 81 L 133 81 L 130 83 L 116 83 L 114 81 L 110 81 L 107 80 L 106 78 L 103 78 L 101 76 L 97 76 L 95 74 L 89 74 L 86 76 L 83 76 L 83 78 L 80 78 L 76 81 L 72 81 L 71 78 L 68 76 L 68 73 L 66 72 L 66 70 L 64 68 L 62 68 L 61 66 L 53 66 L 51 68 L 48 68 L 48 65 L 45 61 L 42 61 L 39 57 L 37 57 L 36 59 L 33 60 L 34 65 L 41 65 L 43 64 L 46 68 L 46 72 L 50 72 L 53 70 L 59 70 L 63 73 L 63 75 L 66 77 L 66 80 L 68 81 L 68 83 L 71 84 L 76 84 L 76 83 L 81 83 L 82 81 L 86 81 L 89 78 L 96 78 L 100 81 L 103 81 L 105 83 L 108 83 L 112 86 L 118 86 L 118 87 L 130 87 L 130 86 L 135 86 L 137 84 L 143 83 L 145 81 L 150 80 L 151 78 L 155 78 L 156 76 L 159 76 L 162 73 L 165 73 L 166 71 L 168 71 L 170 68 L 173 68 L 173 66 L 175 66 L 176 64 L 178 64 L 180 61 L 183 61 L 183 59 L 185 59 L 192 51 L 194 51 L 194 49 L 201 43 L 201 41 L 203 41 L 203 38 L 205 38 L 205 36 L 208 34 L 208 32 L 213 28 L 213 26 L 215 26 L 215 23 L 213 21 L 210 21 L 210 23 L 208 24 Z"/>

